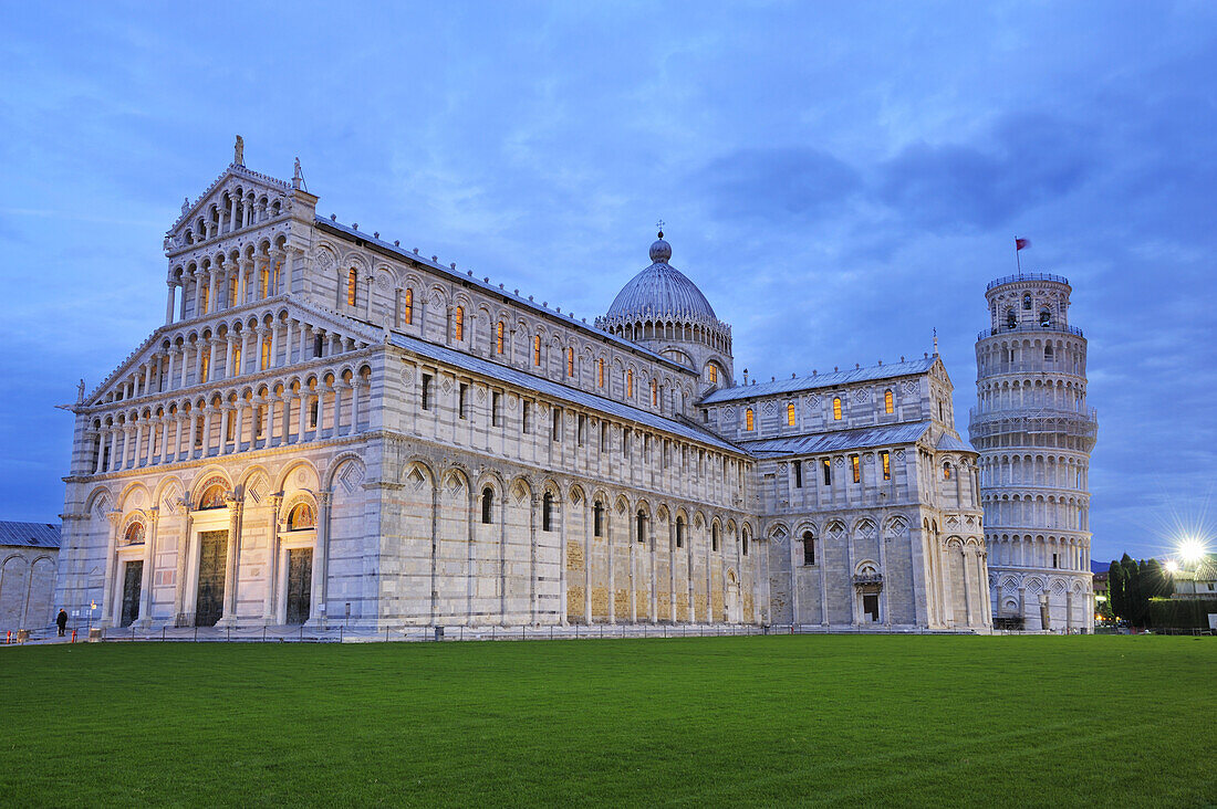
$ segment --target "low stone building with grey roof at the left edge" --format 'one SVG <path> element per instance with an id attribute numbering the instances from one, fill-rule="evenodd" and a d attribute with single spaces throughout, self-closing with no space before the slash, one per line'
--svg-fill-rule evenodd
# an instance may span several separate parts
<path id="1" fill-rule="evenodd" d="M 0 631 L 49 627 L 60 527 L 0 521 Z"/>

